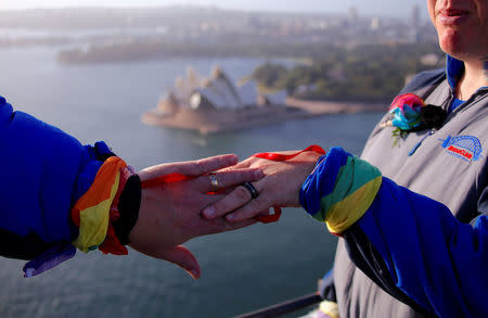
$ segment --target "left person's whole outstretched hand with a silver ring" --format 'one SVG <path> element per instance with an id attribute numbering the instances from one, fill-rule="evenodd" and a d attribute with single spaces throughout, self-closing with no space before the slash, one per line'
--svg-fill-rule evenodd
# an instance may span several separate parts
<path id="1" fill-rule="evenodd" d="M 201 216 L 205 206 L 223 198 L 223 194 L 206 194 L 216 190 L 207 174 L 236 163 L 235 155 L 220 155 L 141 170 L 138 174 L 141 181 L 175 173 L 196 178 L 142 190 L 139 218 L 129 234 L 130 246 L 152 257 L 175 263 L 193 278 L 198 278 L 198 263 L 180 244 L 194 237 L 234 230 L 255 222 L 243 220 L 230 224 L 223 218 L 207 220 Z M 224 189 L 245 181 L 256 181 L 264 174 L 260 169 L 233 169 L 217 171 L 215 177 Z"/>

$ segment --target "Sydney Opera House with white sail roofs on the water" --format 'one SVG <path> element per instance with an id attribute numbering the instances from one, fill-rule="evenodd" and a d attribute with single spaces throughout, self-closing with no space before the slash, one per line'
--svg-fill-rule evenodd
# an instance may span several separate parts
<path id="1" fill-rule="evenodd" d="M 201 133 L 236 130 L 300 115 L 301 110 L 286 105 L 286 91 L 260 94 L 255 80 L 236 85 L 218 66 L 209 78 L 189 67 L 187 77 L 177 78 L 167 97 L 145 113 L 142 122 Z"/>

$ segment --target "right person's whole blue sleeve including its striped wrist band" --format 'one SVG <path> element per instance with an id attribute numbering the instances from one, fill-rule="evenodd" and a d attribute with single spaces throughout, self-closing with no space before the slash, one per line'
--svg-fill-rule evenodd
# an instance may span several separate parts
<path id="1" fill-rule="evenodd" d="M 369 187 L 376 178 L 369 166 L 331 149 L 303 186 L 303 206 L 330 229 L 360 213 L 335 233 L 355 265 L 397 300 L 425 316 L 488 317 L 488 189 L 479 216 L 461 224 L 444 204 L 388 178 Z"/>

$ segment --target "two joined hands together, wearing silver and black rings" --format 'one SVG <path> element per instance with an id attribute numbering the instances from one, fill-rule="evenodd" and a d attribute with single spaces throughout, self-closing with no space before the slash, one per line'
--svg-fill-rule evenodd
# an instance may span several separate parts
<path id="1" fill-rule="evenodd" d="M 286 162 L 249 157 L 237 164 L 235 155 L 220 155 L 143 169 L 138 174 L 141 181 L 175 173 L 194 178 L 142 190 L 130 245 L 181 266 L 196 279 L 201 276 L 198 263 L 182 243 L 253 225 L 256 216 L 269 214 L 273 206 L 299 206 L 299 189 L 319 157 L 304 152 Z M 224 192 L 209 194 L 219 190 L 214 189 L 210 173 Z M 259 195 L 253 199 L 243 182 L 252 182 Z"/>

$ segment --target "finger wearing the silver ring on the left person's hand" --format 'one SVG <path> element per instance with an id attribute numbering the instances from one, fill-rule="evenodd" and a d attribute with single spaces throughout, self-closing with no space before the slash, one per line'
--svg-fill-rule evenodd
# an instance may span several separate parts
<path id="1" fill-rule="evenodd" d="M 232 169 L 202 176 L 197 178 L 195 182 L 197 182 L 197 187 L 203 193 L 207 193 L 210 191 L 215 192 L 223 190 L 232 186 L 241 185 L 243 182 L 257 181 L 259 179 L 262 179 L 264 177 L 265 174 L 260 168 Z M 215 182 L 213 182 L 213 180 Z"/>

